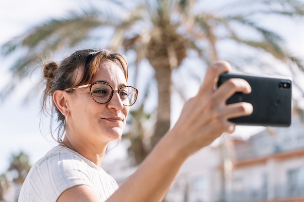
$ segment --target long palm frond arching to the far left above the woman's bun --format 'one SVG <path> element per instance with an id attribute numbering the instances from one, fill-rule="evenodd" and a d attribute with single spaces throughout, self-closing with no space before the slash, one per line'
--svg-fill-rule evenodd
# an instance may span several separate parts
<path id="1" fill-rule="evenodd" d="M 14 73 L 11 80 L 1 91 L 0 97 L 5 98 L 18 84 L 16 80 L 26 78 L 37 63 L 49 59 L 53 52 L 63 48 L 75 47 L 86 39 L 95 28 L 101 25 L 113 25 L 100 10 L 95 8 L 71 12 L 68 17 L 50 19 L 34 27 L 26 33 L 13 38 L 1 47 L 1 53 L 8 56 L 22 48 L 22 54 L 9 68 Z"/>

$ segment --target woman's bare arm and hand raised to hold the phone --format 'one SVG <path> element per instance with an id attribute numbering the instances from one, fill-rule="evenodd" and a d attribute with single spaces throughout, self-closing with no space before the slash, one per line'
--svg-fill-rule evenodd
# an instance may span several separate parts
<path id="1" fill-rule="evenodd" d="M 253 107 L 249 103 L 226 105 L 226 100 L 234 93 L 251 92 L 245 80 L 230 79 L 215 90 L 220 74 L 229 69 L 228 62 L 209 67 L 199 93 L 186 102 L 174 127 L 107 202 L 162 201 L 187 157 L 222 133 L 232 133 L 235 124 L 228 119 L 252 113 Z M 90 187 L 76 186 L 58 199 L 58 202 L 68 201 L 98 202 L 98 199 Z"/>

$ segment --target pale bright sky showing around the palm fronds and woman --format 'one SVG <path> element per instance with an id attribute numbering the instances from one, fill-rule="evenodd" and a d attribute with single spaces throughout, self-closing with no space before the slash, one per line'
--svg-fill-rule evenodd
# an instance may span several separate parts
<path id="1" fill-rule="evenodd" d="M 67 11 L 77 8 L 75 0 L 9 0 L 0 1 L 0 44 L 8 39 L 21 34 L 31 26 L 43 22 L 50 16 L 63 16 Z M 299 24 L 297 24 L 299 23 Z M 304 58 L 304 23 L 296 22 L 292 25 L 283 26 L 281 22 L 271 21 L 272 26 L 282 31 L 288 42 L 288 47 Z M 286 29 L 288 28 L 288 29 Z M 12 57 L 1 58 L 0 63 L 0 87 L 8 78 L 8 66 Z M 43 135 L 48 133 L 48 127 L 42 123 L 40 126 L 40 97 L 33 97 L 29 103 L 23 104 L 22 97 L 31 86 L 31 79 L 22 83 L 14 95 L 11 95 L 4 103 L 0 103 L 0 173 L 8 167 L 9 156 L 24 151 L 30 156 L 30 163 L 42 157 L 51 149 L 54 143 L 50 137 Z M 175 122 L 182 106 L 173 111 L 172 119 Z M 47 123 L 48 120 L 45 120 Z M 236 134 L 248 135 L 262 127 L 237 127 Z M 40 131 L 41 130 L 41 131 Z M 122 158 L 123 145 L 110 151 L 108 159 Z M 106 160 L 106 159 L 105 159 Z"/>

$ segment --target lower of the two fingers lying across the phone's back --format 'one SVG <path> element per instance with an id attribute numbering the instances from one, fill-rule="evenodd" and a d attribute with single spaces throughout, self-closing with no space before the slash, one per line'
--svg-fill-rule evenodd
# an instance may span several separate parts
<path id="1" fill-rule="evenodd" d="M 232 119 L 240 116 L 248 116 L 253 113 L 253 105 L 248 102 L 238 102 L 227 105 L 227 107 L 222 110 L 222 115 L 226 119 Z"/>

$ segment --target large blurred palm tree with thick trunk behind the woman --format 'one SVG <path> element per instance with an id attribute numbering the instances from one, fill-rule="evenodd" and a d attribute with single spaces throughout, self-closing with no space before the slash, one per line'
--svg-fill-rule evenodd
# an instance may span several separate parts
<path id="1" fill-rule="evenodd" d="M 50 19 L 5 43 L 2 54 L 9 55 L 20 48 L 22 52 L 18 52 L 21 58 L 11 67 L 14 76 L 1 91 L 1 97 L 18 85 L 14 81 L 29 76 L 33 64 L 49 59 L 62 49 L 90 44 L 92 39 L 95 44 L 101 38 L 101 42 L 111 39 L 108 48 L 135 53 L 134 65 L 130 66 L 140 68 L 141 62 L 148 60 L 155 71 L 158 107 L 153 146 L 170 127 L 172 71 L 189 55 L 198 55 L 202 67 L 218 59 L 228 59 L 241 68 L 237 64 L 241 59 L 248 62 L 247 57 L 237 53 L 238 59 L 234 60 L 233 53 L 220 48 L 223 43 L 232 43 L 270 55 L 272 60 L 290 68 L 304 70 L 301 60 L 287 51 L 283 38 L 254 20 L 257 16 L 271 15 L 303 17 L 304 4 L 300 0 L 230 1 L 217 7 L 218 10 L 206 9 L 208 5 L 199 0 L 115 2 L 118 3 L 112 4 L 113 10 L 102 9 L 109 3 L 106 1 L 100 8 L 89 7 L 64 18 Z M 242 29 L 246 29 L 245 34 Z M 247 34 L 248 31 L 254 34 Z M 263 59 L 254 61 L 263 62 Z"/>

